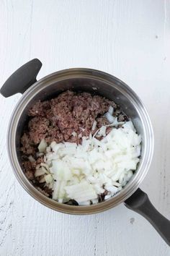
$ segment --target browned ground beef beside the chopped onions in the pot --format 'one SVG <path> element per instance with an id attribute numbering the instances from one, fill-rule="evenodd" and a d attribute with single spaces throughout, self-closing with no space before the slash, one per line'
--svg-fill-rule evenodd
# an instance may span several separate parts
<path id="1" fill-rule="evenodd" d="M 50 101 L 37 101 L 28 111 L 30 121 L 27 124 L 24 134 L 21 138 L 21 151 L 23 166 L 27 178 L 32 180 L 41 192 L 50 196 L 52 190 L 40 184 L 35 179 L 35 166 L 43 161 L 42 157 L 37 156 L 37 145 L 42 139 L 46 142 L 76 142 L 81 143 L 81 137 L 94 134 L 102 125 L 109 124 L 104 118 L 104 113 L 113 106 L 115 115 L 119 121 L 126 120 L 127 116 L 120 111 L 120 108 L 113 102 L 99 95 L 90 93 L 74 93 L 67 90 Z M 94 120 L 97 121 L 97 127 L 91 130 Z M 110 127 L 107 128 L 107 133 Z M 76 132 L 76 136 L 73 136 Z M 27 156 L 32 155 L 36 162 L 30 163 Z M 26 158 L 26 160 L 25 160 Z"/>

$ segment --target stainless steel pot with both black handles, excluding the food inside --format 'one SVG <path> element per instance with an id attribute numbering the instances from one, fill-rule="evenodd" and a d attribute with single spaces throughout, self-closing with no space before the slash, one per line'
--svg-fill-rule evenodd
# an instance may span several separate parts
<path id="1" fill-rule="evenodd" d="M 37 81 L 37 73 L 42 64 L 38 59 L 29 61 L 20 67 L 1 88 L 1 94 L 9 97 L 23 93 L 9 122 L 7 146 L 9 160 L 15 176 L 22 187 L 37 201 L 53 210 L 70 214 L 99 213 L 113 208 L 121 202 L 150 221 L 164 240 L 170 244 L 170 222 L 157 212 L 145 192 L 138 189 L 151 164 L 153 155 L 153 129 L 146 108 L 132 89 L 110 74 L 94 69 L 66 69 L 49 74 Z M 65 205 L 42 195 L 24 175 L 21 164 L 20 137 L 27 121 L 27 110 L 37 100 L 53 98 L 64 90 L 96 92 L 120 105 L 122 110 L 133 120 L 137 132 L 142 136 L 142 152 L 138 169 L 130 182 L 117 195 L 97 205 Z"/>

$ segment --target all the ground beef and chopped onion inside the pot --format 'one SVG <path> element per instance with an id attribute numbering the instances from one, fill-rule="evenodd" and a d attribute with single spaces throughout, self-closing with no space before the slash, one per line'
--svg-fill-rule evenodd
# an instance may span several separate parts
<path id="1" fill-rule="evenodd" d="M 114 196 L 140 161 L 140 135 L 117 104 L 66 91 L 38 101 L 21 138 L 27 178 L 58 202 L 91 205 Z"/>

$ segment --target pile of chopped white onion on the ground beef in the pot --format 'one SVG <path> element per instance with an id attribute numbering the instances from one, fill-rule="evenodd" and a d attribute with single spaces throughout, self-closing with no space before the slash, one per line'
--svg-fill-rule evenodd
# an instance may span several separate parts
<path id="1" fill-rule="evenodd" d="M 98 195 L 107 190 L 104 197 L 107 200 L 131 179 L 139 162 L 141 137 L 131 121 L 119 122 L 117 117 L 112 118 L 111 124 L 102 126 L 93 136 L 82 137 L 79 145 L 50 144 L 45 163 L 37 165 L 35 176 L 44 176 L 41 182 L 53 189 L 53 200 L 73 199 L 79 205 L 97 203 Z M 116 129 L 118 124 L 123 125 Z M 112 127 L 108 135 L 107 127 Z M 97 140 L 95 136 L 103 138 Z"/>

